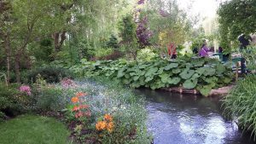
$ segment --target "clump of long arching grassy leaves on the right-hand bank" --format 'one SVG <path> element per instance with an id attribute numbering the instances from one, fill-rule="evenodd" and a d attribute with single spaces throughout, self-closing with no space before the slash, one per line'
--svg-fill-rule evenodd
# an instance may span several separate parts
<path id="1" fill-rule="evenodd" d="M 230 91 L 230 94 L 224 97 L 224 114 L 237 120 L 242 130 L 249 130 L 256 134 L 256 76 L 248 75 L 241 79 Z"/>

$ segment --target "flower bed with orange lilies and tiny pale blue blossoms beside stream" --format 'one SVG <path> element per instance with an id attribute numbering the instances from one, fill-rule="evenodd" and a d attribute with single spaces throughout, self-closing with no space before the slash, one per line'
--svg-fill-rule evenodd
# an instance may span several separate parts
<path id="1" fill-rule="evenodd" d="M 150 143 L 143 100 L 133 95 L 129 89 L 89 81 L 73 82 L 70 79 L 62 80 L 61 84 L 39 87 L 39 94 L 44 93 L 44 87 L 56 91 L 61 89 L 62 95 L 58 100 L 66 107 L 58 107 L 52 111 L 64 114 L 64 120 L 72 131 L 72 141 Z"/>

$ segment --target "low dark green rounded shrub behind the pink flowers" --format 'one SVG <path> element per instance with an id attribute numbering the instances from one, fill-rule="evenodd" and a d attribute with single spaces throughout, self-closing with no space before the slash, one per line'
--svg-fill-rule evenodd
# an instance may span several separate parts
<path id="1" fill-rule="evenodd" d="M 61 67 L 38 67 L 28 73 L 28 79 L 33 83 L 36 82 L 37 76 L 40 75 L 47 83 L 58 83 L 61 78 L 73 78 L 73 73 Z"/>

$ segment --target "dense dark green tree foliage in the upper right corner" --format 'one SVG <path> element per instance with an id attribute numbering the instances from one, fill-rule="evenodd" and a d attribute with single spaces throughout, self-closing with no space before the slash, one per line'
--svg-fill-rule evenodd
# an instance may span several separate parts
<path id="1" fill-rule="evenodd" d="M 220 46 L 230 49 L 230 42 L 236 42 L 241 33 L 246 35 L 255 33 L 255 13 L 254 0 L 231 0 L 222 3 L 218 9 Z"/>

